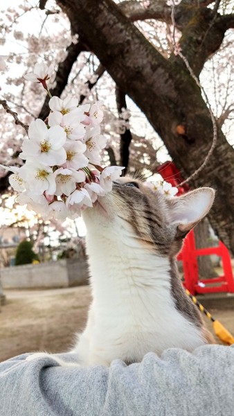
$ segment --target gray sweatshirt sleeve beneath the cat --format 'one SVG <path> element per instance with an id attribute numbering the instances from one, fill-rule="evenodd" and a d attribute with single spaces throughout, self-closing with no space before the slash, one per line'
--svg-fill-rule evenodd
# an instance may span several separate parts
<path id="1" fill-rule="evenodd" d="M 233 416 L 234 347 L 207 345 L 192 354 L 110 367 L 61 367 L 53 357 L 0 363 L 1 416 Z M 75 363 L 72 354 L 57 354 Z"/>

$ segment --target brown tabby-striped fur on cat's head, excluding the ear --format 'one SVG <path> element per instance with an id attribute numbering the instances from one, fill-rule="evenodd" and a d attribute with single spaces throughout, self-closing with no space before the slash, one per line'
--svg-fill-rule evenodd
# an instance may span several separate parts
<path id="1" fill-rule="evenodd" d="M 130 177 L 114 183 L 116 214 L 132 226 L 143 243 L 160 254 L 169 254 L 174 235 L 169 226 L 168 198 Z"/>

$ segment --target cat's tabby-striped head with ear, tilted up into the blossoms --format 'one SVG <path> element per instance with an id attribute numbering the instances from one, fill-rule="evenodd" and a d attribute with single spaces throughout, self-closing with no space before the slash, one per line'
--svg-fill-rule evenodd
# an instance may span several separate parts
<path id="1" fill-rule="evenodd" d="M 123 233 L 127 229 L 150 250 L 174 256 L 181 249 L 183 238 L 206 216 L 213 204 L 215 191 L 199 188 L 183 196 L 170 197 L 152 191 L 131 177 L 114 182 L 113 190 L 100 198 L 96 205 L 84 211 L 88 227 L 98 223 L 100 232 L 111 227 Z M 87 218 L 89 219 L 87 221 Z"/>

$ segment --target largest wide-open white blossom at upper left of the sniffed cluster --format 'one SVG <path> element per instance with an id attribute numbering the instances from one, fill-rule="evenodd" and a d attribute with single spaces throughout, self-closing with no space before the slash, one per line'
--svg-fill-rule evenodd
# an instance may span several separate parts
<path id="1" fill-rule="evenodd" d="M 62 147 L 66 141 L 66 133 L 59 125 L 48 129 L 44 121 L 37 119 L 30 123 L 28 137 L 21 147 L 21 159 L 36 157 L 39 163 L 49 166 L 66 162 L 66 150 Z"/>

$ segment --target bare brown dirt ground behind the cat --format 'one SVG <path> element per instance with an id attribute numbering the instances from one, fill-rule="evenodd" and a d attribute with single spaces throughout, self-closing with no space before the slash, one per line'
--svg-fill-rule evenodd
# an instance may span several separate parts
<path id="1" fill-rule="evenodd" d="M 66 352 L 82 331 L 91 301 L 88 286 L 5 291 L 0 313 L 0 361 L 24 352 Z M 234 310 L 210 310 L 234 335 Z M 210 321 L 207 326 L 213 332 Z"/>

